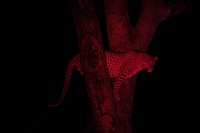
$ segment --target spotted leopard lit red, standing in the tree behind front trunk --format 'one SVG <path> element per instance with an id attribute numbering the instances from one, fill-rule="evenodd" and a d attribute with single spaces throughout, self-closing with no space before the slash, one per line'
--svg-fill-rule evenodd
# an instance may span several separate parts
<path id="1" fill-rule="evenodd" d="M 135 51 L 125 53 L 106 51 L 105 55 L 109 76 L 111 79 L 114 79 L 113 94 L 117 101 L 120 100 L 119 89 L 122 84 L 127 79 L 135 76 L 138 72 L 142 70 L 146 69 L 148 72 L 152 72 L 154 64 L 157 60 L 157 57 L 151 56 L 147 53 L 139 53 Z M 56 101 L 50 103 L 49 106 L 58 106 L 63 101 L 69 88 L 70 77 L 74 67 L 80 72 L 81 75 L 83 75 L 79 54 L 74 56 L 67 66 L 66 78 L 62 94 Z"/>

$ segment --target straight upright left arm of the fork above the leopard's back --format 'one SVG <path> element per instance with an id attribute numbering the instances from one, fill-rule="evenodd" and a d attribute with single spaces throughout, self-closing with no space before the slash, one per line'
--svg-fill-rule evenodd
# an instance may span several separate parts
<path id="1" fill-rule="evenodd" d="M 112 51 L 129 51 L 132 46 L 127 0 L 104 0 L 107 34 Z"/>

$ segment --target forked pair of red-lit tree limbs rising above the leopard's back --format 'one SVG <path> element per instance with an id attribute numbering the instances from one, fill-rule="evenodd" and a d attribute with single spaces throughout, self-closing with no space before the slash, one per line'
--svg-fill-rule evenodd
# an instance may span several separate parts
<path id="1" fill-rule="evenodd" d="M 131 27 L 127 0 L 104 0 L 105 17 L 110 49 L 125 52 L 147 51 L 157 27 L 169 16 L 187 11 L 193 0 L 167 2 L 166 0 L 142 0 L 140 16 Z"/>

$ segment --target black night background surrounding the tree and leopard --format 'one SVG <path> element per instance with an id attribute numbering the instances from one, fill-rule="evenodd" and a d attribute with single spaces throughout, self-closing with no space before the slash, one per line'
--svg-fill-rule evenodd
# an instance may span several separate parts
<path id="1" fill-rule="evenodd" d="M 129 3 L 134 25 L 139 2 Z M 108 50 L 103 8 L 95 3 Z M 133 5 L 132 7 L 130 5 Z M 67 1 L 10 2 L 4 10 L 6 86 L 1 111 L 3 133 L 82 133 L 91 119 L 84 77 L 75 69 L 68 94 L 57 98 L 69 60 L 78 53 L 75 25 Z M 193 130 L 198 84 L 199 13 L 197 4 L 168 18 L 157 29 L 148 53 L 157 55 L 152 73 L 138 74 L 133 108 L 135 133 Z M 134 16 L 134 17 L 133 17 Z M 197 77 L 196 77 L 197 76 Z M 192 124 L 191 124 L 192 123 Z M 192 127 L 191 127 L 192 126 Z"/>

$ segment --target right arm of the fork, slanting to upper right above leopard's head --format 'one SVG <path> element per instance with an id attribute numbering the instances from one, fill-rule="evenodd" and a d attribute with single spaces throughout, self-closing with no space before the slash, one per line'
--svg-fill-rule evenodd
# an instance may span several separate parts
<path id="1" fill-rule="evenodd" d="M 132 28 L 133 49 L 147 51 L 157 27 L 170 16 L 190 9 L 192 1 L 167 2 L 165 0 L 142 0 L 142 8 L 137 25 Z"/>

